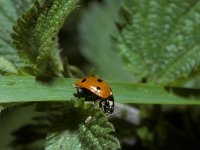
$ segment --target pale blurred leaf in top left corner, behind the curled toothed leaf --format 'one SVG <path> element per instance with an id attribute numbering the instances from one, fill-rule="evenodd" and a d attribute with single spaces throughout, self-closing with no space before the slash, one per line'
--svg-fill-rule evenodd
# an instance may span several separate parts
<path id="1" fill-rule="evenodd" d="M 4 56 L 5 61 L 11 64 L 11 62 L 17 66 L 23 66 L 23 62 L 20 61 L 17 56 L 14 45 L 12 44 L 12 39 L 10 33 L 12 31 L 12 26 L 17 20 L 17 16 L 21 15 L 28 6 L 30 6 L 31 0 L 1 0 L 0 1 L 0 55 Z M 10 62 L 8 62 L 10 61 Z M 1 70 L 8 70 L 1 65 Z M 12 70 L 11 68 L 9 70 Z"/>

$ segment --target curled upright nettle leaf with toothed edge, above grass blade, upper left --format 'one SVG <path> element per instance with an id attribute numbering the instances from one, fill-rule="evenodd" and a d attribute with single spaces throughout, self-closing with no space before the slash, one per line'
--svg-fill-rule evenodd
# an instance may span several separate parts
<path id="1" fill-rule="evenodd" d="M 19 54 L 37 66 L 40 75 L 60 76 L 63 64 L 59 56 L 57 33 L 78 0 L 35 1 L 13 27 L 12 38 Z"/>

